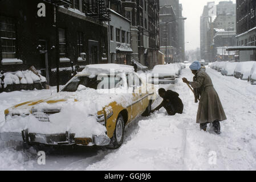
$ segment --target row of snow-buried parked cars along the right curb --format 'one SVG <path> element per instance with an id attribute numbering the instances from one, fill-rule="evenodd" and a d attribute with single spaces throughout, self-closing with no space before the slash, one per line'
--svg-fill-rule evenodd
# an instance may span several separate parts
<path id="1" fill-rule="evenodd" d="M 216 61 L 210 65 L 210 68 L 216 69 L 225 76 L 234 76 L 241 80 L 247 80 L 251 84 L 256 84 L 256 62 L 230 62 L 230 61 Z"/>

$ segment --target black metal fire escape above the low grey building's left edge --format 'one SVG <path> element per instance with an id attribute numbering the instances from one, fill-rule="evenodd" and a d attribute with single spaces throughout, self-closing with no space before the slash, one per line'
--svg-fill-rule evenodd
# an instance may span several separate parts
<path id="1" fill-rule="evenodd" d="M 106 6 L 105 0 L 91 0 L 85 2 L 86 15 L 97 19 L 100 22 L 110 20 L 110 14 Z"/>

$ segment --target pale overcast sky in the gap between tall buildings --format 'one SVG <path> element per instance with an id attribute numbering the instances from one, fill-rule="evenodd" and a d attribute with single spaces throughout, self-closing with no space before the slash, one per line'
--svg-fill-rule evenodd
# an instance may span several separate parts
<path id="1" fill-rule="evenodd" d="M 215 4 L 220 1 L 224 0 L 216 0 Z M 235 0 L 232 1 L 235 3 Z M 200 16 L 207 2 L 211 0 L 180 0 L 182 15 L 188 18 L 185 20 L 185 50 L 200 48 Z"/>

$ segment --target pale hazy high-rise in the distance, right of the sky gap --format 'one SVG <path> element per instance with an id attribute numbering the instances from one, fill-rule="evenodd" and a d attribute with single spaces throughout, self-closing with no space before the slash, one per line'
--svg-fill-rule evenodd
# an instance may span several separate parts
<path id="1" fill-rule="evenodd" d="M 206 61 L 232 60 L 234 55 L 224 49 L 235 44 L 235 4 L 208 2 L 200 18 L 201 59 Z M 223 49 L 221 53 L 218 51 Z M 222 53 L 223 52 L 223 53 Z"/>

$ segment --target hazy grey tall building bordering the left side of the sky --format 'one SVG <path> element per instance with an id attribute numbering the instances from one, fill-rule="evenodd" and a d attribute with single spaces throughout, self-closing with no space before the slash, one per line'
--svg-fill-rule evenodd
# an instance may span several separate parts
<path id="1" fill-rule="evenodd" d="M 160 0 L 160 51 L 165 61 L 185 60 L 184 20 L 178 0 Z"/>

